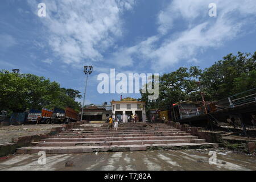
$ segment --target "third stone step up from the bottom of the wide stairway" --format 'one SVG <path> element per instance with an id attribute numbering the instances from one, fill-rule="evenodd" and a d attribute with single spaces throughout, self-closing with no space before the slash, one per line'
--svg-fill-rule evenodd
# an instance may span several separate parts
<path id="1" fill-rule="evenodd" d="M 196 136 L 167 136 L 167 137 L 110 137 L 110 138 L 46 138 L 45 142 L 89 142 L 89 141 L 120 141 L 120 140 L 175 140 L 175 139 L 197 139 Z"/>

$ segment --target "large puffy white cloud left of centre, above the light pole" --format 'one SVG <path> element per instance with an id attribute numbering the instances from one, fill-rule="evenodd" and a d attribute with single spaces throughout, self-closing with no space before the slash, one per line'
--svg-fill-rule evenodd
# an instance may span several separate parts
<path id="1" fill-rule="evenodd" d="M 35 10 L 36 2 L 27 1 Z M 134 0 L 45 0 L 44 3 L 47 15 L 40 19 L 48 29 L 49 46 L 64 63 L 74 67 L 85 60 L 90 63 L 103 60 L 102 53 L 122 36 L 122 12 L 135 5 Z"/>

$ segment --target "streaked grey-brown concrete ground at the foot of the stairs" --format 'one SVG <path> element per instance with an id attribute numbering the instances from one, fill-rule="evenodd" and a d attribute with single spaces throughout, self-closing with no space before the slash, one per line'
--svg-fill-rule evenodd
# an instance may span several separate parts
<path id="1" fill-rule="evenodd" d="M 86 154 L 47 155 L 46 165 L 38 164 L 40 156 L 13 155 L 0 160 L 0 170 L 17 171 L 172 171 L 172 170 L 256 170 L 256 157 L 233 154 L 230 151 L 217 151 L 217 165 L 210 165 L 210 150 L 179 151 L 138 151 L 138 152 L 100 152 Z M 65 167 L 72 161 L 73 167 Z"/>

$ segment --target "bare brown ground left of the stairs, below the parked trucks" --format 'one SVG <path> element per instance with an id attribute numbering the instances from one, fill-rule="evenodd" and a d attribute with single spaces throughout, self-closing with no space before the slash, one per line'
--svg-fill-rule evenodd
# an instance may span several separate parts
<path id="1" fill-rule="evenodd" d="M 12 138 L 24 137 L 38 134 L 47 134 L 53 127 L 62 125 L 20 125 L 0 126 L 0 144 L 11 143 Z"/>

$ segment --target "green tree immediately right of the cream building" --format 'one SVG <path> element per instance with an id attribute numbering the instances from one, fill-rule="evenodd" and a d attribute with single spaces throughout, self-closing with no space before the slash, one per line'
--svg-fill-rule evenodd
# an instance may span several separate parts
<path id="1" fill-rule="evenodd" d="M 197 81 L 201 74 L 198 67 L 181 67 L 174 72 L 159 77 L 159 98 L 148 100 L 148 93 L 142 94 L 141 100 L 146 102 L 147 109 L 170 109 L 178 101 L 194 99 L 197 93 Z"/>

